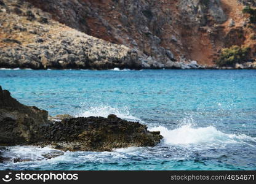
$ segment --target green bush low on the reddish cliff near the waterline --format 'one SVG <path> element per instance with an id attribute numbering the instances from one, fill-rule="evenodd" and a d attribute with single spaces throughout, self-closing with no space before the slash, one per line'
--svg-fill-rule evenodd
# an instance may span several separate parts
<path id="1" fill-rule="evenodd" d="M 230 48 L 223 48 L 220 57 L 215 62 L 218 66 L 234 66 L 236 63 L 244 63 L 249 53 L 249 47 L 233 45 Z"/>

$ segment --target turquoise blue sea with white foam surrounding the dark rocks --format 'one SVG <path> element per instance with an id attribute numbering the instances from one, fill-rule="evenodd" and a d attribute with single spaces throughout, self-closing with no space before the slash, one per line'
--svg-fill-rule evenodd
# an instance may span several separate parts
<path id="1" fill-rule="evenodd" d="M 0 170 L 256 170 L 255 70 L 0 70 L 0 85 L 50 115 L 139 121 L 164 139 L 113 152 L 9 147 Z"/>

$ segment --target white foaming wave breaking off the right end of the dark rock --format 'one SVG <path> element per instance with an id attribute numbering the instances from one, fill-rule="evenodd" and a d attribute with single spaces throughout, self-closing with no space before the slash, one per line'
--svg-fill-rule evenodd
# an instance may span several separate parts
<path id="1" fill-rule="evenodd" d="M 164 137 L 164 144 L 167 145 L 225 145 L 239 142 L 256 142 L 256 138 L 254 137 L 244 134 L 225 134 L 218 131 L 214 126 L 193 128 L 192 125 L 183 125 L 180 128 L 172 130 L 164 126 L 159 126 L 151 128 L 150 131 L 160 131 Z"/>

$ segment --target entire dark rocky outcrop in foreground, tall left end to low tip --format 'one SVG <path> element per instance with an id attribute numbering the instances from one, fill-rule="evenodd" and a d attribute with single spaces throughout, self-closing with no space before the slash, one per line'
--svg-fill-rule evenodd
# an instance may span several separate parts
<path id="1" fill-rule="evenodd" d="M 153 147 L 162 139 L 138 122 L 108 118 L 73 118 L 61 115 L 61 121 L 48 120 L 46 110 L 20 104 L 0 87 L 0 146 L 38 145 L 70 151 L 111 151 L 122 147 Z M 46 155 L 45 157 L 53 157 Z M 0 162 L 1 150 L 0 150 Z M 18 160 L 19 161 L 19 160 Z"/>

